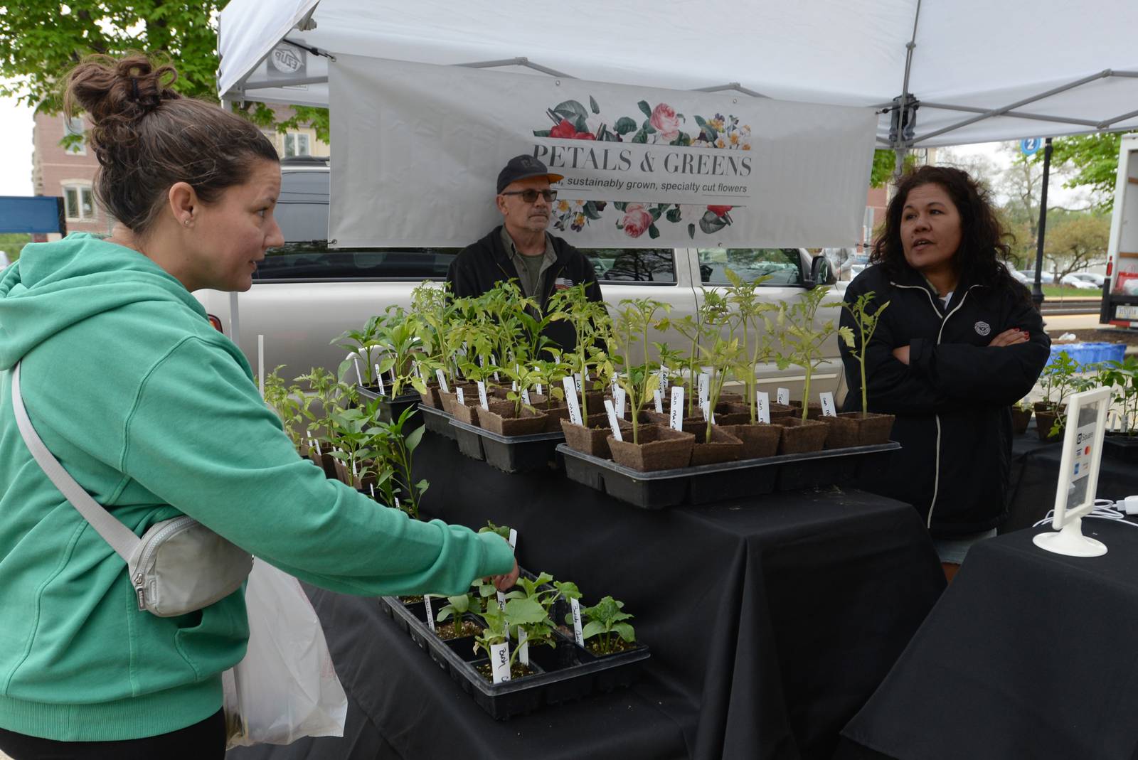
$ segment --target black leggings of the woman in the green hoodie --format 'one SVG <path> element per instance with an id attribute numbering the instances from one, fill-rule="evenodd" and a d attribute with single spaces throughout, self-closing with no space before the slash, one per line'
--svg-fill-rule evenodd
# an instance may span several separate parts
<path id="1" fill-rule="evenodd" d="M 168 734 L 122 742 L 56 742 L 0 728 L 0 750 L 13 760 L 222 760 L 225 717 L 218 710 Z"/>

